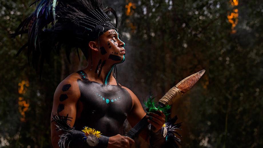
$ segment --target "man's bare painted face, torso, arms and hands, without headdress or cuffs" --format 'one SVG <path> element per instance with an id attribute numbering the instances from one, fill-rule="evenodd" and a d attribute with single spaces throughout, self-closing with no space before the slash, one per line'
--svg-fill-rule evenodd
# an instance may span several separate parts
<path id="1" fill-rule="evenodd" d="M 53 114 L 68 114 L 68 123 L 76 130 L 88 126 L 100 131 L 109 137 L 109 148 L 133 144 L 133 139 L 121 136 L 123 122 L 127 118 L 133 127 L 146 115 L 136 95 L 121 86 L 112 75 L 113 66 L 125 60 L 124 45 L 114 29 L 103 33 L 99 43 L 98 40 L 90 41 L 93 66 L 89 64 L 69 75 L 59 84 L 54 95 Z M 150 113 L 149 116 L 152 131 L 159 131 L 165 123 L 164 114 Z M 59 139 L 55 128 L 55 122 L 51 122 L 53 147 L 57 147 Z"/>

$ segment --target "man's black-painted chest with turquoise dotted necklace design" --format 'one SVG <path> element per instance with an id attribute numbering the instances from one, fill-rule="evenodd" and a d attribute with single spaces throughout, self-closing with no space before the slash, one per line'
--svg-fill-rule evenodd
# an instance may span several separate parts
<path id="1" fill-rule="evenodd" d="M 81 94 L 79 120 L 86 126 L 107 123 L 109 120 L 123 124 L 132 109 L 130 94 L 119 85 L 102 85 L 85 78 L 77 80 Z"/>

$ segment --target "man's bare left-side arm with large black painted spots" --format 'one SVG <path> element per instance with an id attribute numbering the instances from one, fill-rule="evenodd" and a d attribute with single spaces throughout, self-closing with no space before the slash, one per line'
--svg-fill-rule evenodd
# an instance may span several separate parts
<path id="1" fill-rule="evenodd" d="M 77 101 L 80 97 L 77 81 L 66 78 L 57 87 L 54 94 L 53 108 L 51 113 L 51 141 L 53 147 L 57 147 L 60 132 L 56 131 L 52 114 L 57 114 L 61 118 L 68 115 L 67 123 L 72 127 L 75 123 L 77 113 Z"/>

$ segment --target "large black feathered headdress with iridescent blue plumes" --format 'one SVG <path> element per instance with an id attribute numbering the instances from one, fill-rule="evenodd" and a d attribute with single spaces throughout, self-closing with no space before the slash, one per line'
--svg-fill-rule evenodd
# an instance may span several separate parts
<path id="1" fill-rule="evenodd" d="M 31 5 L 37 2 L 36 10 L 21 22 L 10 37 L 27 33 L 28 42 L 17 55 L 27 47 L 28 62 L 31 61 L 32 67 L 39 70 L 40 77 L 43 63 L 45 60 L 49 62 L 52 49 L 59 53 L 61 45 L 65 45 L 69 63 L 72 48 L 77 49 L 77 53 L 80 48 L 88 59 L 87 43 L 105 31 L 117 28 L 116 12 L 112 8 L 104 9 L 101 0 L 36 0 Z M 115 16 L 116 27 L 107 16 L 109 12 Z"/>

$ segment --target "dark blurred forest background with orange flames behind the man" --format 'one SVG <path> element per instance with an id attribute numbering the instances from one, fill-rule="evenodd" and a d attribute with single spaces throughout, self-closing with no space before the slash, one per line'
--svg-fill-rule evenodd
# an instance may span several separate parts
<path id="1" fill-rule="evenodd" d="M 84 56 L 51 58 L 42 80 L 15 54 L 27 35 L 9 39 L 33 12 L 32 1 L 0 0 L 0 147 L 51 147 L 50 115 L 57 85 Z M 185 77 L 206 70 L 178 100 L 182 147 L 263 147 L 262 0 L 106 0 L 119 17 L 126 61 L 119 82 L 143 101 L 160 99 Z M 113 17 L 112 17 L 113 18 Z"/>

